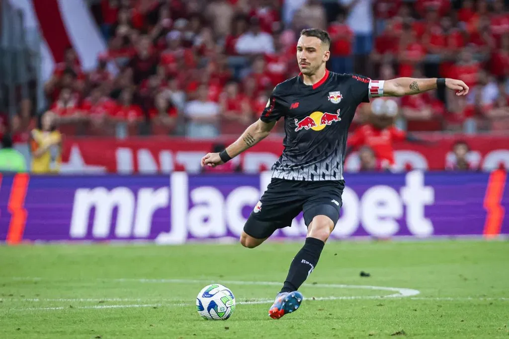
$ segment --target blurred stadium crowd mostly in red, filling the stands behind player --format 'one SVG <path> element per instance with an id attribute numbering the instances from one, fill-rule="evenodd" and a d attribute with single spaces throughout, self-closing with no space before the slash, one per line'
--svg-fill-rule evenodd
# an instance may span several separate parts
<path id="1" fill-rule="evenodd" d="M 298 74 L 300 30 L 318 27 L 332 38 L 332 71 L 454 77 L 470 86 L 466 98 L 402 98 L 398 127 L 507 130 L 506 9 L 503 0 L 100 0 L 92 11 L 107 52 L 84 72 L 68 48 L 44 91 L 65 134 L 239 134 L 273 87 Z M 22 101 L 10 126 L 4 121 L 15 139 L 34 125 L 31 105 Z M 353 129 L 369 110 L 359 108 Z"/>

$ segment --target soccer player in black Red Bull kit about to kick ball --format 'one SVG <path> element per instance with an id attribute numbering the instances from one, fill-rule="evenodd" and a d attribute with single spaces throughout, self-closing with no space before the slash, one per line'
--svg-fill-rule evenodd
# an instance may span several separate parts
<path id="1" fill-rule="evenodd" d="M 269 309 L 278 319 L 298 309 L 298 292 L 315 269 L 330 233 L 336 225 L 345 188 L 343 165 L 348 127 L 357 106 L 371 97 L 401 97 L 437 87 L 468 93 L 463 81 L 454 79 L 397 78 L 376 81 L 329 72 L 330 37 L 320 29 L 304 29 L 297 43 L 301 73 L 278 84 L 260 119 L 241 137 L 218 153 L 208 153 L 202 166 L 217 166 L 238 156 L 267 137 L 284 117 L 286 137 L 281 157 L 272 166 L 272 180 L 244 225 L 240 243 L 255 248 L 279 228 L 291 226 L 304 212 L 307 237 L 290 264 L 288 276 Z"/>

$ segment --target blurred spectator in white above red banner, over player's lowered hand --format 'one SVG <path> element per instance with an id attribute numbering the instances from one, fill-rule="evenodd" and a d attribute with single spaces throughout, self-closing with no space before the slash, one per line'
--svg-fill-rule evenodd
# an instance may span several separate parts
<path id="1" fill-rule="evenodd" d="M 200 85 L 198 98 L 185 108 L 186 134 L 191 138 L 215 138 L 219 135 L 219 105 L 208 99 L 206 85 Z"/>

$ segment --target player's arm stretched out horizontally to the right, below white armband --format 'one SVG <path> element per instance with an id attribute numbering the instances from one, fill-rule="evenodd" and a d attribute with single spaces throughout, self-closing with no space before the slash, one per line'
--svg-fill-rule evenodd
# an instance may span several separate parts
<path id="1" fill-rule="evenodd" d="M 442 86 L 455 90 L 457 96 L 465 96 L 468 93 L 468 86 L 461 80 L 449 78 L 396 78 L 385 81 L 383 86 L 383 96 L 403 97 L 419 94 Z"/>

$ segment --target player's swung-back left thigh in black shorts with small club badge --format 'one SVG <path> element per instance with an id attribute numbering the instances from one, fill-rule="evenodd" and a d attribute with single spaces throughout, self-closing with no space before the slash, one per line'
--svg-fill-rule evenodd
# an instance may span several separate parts
<path id="1" fill-rule="evenodd" d="M 294 182 L 272 179 L 251 211 L 244 232 L 255 239 L 270 237 L 275 230 L 292 225 L 292 220 L 302 210 L 302 202 Z"/>

